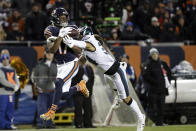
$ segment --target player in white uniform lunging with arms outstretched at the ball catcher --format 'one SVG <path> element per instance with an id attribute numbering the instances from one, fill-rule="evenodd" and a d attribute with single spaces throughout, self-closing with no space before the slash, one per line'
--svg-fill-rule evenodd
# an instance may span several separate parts
<path id="1" fill-rule="evenodd" d="M 84 50 L 84 55 L 90 62 L 100 66 L 104 74 L 112 78 L 120 98 L 135 112 L 138 118 L 137 131 L 143 131 L 145 126 L 145 115 L 142 114 L 136 101 L 129 95 L 129 87 L 126 77 L 125 62 L 118 62 L 103 47 L 104 42 L 98 35 L 94 35 L 91 28 L 83 27 L 82 39 L 74 40 L 65 36 L 64 43 L 70 48 L 79 47 Z"/>

